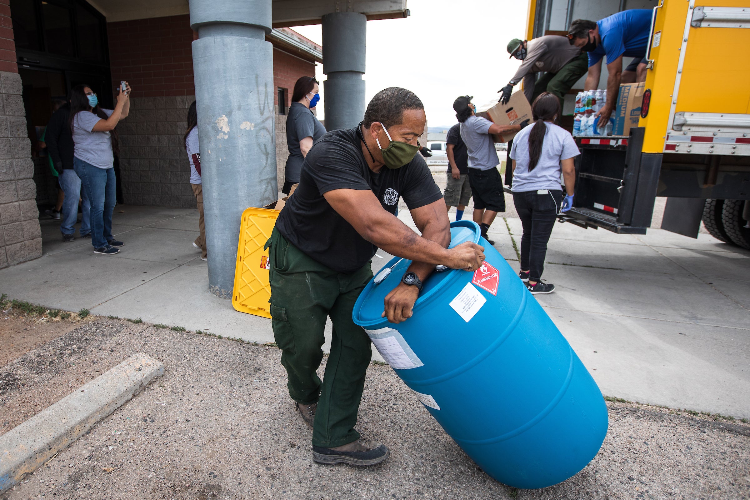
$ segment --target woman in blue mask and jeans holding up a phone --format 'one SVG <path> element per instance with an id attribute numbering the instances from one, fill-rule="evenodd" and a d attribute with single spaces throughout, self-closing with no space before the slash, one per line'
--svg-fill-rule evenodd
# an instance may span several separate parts
<path id="1" fill-rule="evenodd" d="M 115 157 L 118 136 L 115 127 L 130 111 L 130 86 L 118 88 L 115 109 L 99 106 L 89 85 L 71 89 L 70 127 L 73 134 L 73 169 L 91 203 L 91 229 L 94 253 L 114 255 L 124 243 L 112 235 L 115 209 Z"/>

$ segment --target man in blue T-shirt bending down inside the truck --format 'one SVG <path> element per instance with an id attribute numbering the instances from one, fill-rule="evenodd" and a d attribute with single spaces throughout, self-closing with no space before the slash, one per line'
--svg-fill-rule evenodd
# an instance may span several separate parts
<path id="1" fill-rule="evenodd" d="M 622 10 L 597 22 L 576 19 L 568 30 L 571 45 L 589 54 L 589 74 L 583 90 L 597 88 L 601 76 L 601 60 L 607 56 L 607 102 L 601 106 L 600 121 L 607 121 L 612 114 L 620 83 L 645 80 L 646 46 L 651 29 L 651 10 Z M 635 60 L 622 71 L 622 58 Z M 636 74 L 637 72 L 637 74 Z"/>

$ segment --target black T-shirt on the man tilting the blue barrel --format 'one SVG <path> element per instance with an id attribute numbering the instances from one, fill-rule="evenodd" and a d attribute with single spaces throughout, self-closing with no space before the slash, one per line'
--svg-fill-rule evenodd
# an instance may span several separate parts
<path id="1" fill-rule="evenodd" d="M 323 197 L 337 189 L 371 190 L 383 209 L 392 214 L 400 196 L 410 209 L 443 198 L 421 154 L 400 169 L 383 166 L 376 174 L 362 156 L 357 129 L 326 133 L 305 157 L 299 187 L 279 214 L 276 228 L 317 262 L 344 273 L 362 268 L 377 247 L 362 238 Z"/>

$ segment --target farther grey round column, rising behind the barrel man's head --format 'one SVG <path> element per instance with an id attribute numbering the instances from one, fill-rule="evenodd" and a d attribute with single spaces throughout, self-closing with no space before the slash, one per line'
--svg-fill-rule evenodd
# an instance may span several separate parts
<path id="1" fill-rule="evenodd" d="M 354 128 L 365 116 L 365 35 L 368 18 L 356 12 L 323 16 L 326 130 Z"/>

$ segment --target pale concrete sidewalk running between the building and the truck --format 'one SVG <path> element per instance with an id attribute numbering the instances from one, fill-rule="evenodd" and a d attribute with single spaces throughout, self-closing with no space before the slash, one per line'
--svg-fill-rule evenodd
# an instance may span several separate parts
<path id="1" fill-rule="evenodd" d="M 405 207 L 400 217 L 413 225 Z M 196 211 L 119 205 L 113 226 L 125 242 L 121 253 L 95 256 L 89 239 L 63 244 L 58 223 L 42 220 L 44 255 L 1 270 L 0 292 L 273 342 L 269 320 L 237 313 L 208 292 L 206 262 L 191 245 Z M 520 232 L 511 217 L 490 229 L 514 269 Z M 390 258 L 378 255 L 374 270 Z M 750 418 L 750 252 L 704 234 L 616 235 L 556 224 L 544 279 L 556 292 L 537 300 L 604 394 Z"/>

